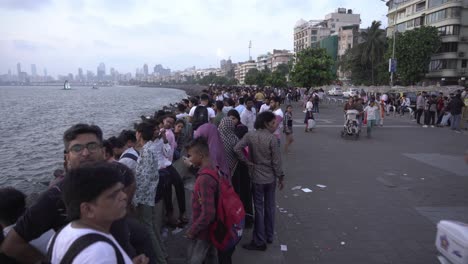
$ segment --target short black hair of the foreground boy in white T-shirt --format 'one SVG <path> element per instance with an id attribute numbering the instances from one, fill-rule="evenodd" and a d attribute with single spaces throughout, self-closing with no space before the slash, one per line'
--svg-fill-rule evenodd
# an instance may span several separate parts
<path id="1" fill-rule="evenodd" d="M 87 164 L 67 172 L 62 196 L 69 221 L 80 219 L 80 206 L 96 200 L 104 191 L 121 182 L 121 172 L 108 162 Z"/>

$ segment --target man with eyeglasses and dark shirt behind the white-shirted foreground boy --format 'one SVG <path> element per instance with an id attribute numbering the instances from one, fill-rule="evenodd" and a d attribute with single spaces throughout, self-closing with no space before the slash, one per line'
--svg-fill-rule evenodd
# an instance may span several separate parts
<path id="1" fill-rule="evenodd" d="M 77 124 L 70 127 L 63 135 L 65 147 L 66 170 L 80 167 L 83 164 L 104 160 L 102 148 L 102 130 L 96 125 Z M 40 237 L 50 229 L 58 231 L 69 223 L 62 200 L 61 183 L 45 191 L 19 218 L 16 226 L 5 237 L 0 251 L 21 263 L 37 263 L 44 256 L 31 247 L 28 241 Z M 114 237 L 126 252 L 129 249 L 128 235 L 119 228 Z M 129 253 L 129 255 L 132 255 Z"/>

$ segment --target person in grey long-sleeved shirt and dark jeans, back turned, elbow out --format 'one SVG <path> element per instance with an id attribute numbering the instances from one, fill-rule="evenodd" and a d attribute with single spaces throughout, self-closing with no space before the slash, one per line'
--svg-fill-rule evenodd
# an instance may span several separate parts
<path id="1" fill-rule="evenodd" d="M 255 206 L 253 238 L 243 245 L 247 250 L 265 251 L 267 243 L 273 243 L 275 226 L 275 188 L 283 189 L 283 169 L 278 140 L 273 135 L 278 125 L 272 112 L 263 112 L 255 121 L 256 131 L 250 131 L 237 143 L 234 151 L 239 160 L 250 168 L 252 192 Z M 249 147 L 250 159 L 244 155 Z"/>

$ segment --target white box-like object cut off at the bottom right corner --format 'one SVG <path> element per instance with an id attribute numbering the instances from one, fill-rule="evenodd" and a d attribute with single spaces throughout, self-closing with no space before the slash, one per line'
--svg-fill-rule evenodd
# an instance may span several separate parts
<path id="1" fill-rule="evenodd" d="M 468 264 L 468 224 L 440 221 L 437 224 L 436 247 L 454 264 Z"/>

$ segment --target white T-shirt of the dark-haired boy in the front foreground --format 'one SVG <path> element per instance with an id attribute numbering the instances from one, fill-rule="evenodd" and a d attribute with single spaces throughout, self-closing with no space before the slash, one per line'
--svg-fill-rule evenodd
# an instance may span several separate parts
<path id="1" fill-rule="evenodd" d="M 93 229 L 88 228 L 75 228 L 72 227 L 72 223 L 66 225 L 60 234 L 55 239 L 54 249 L 52 251 L 52 264 L 60 263 L 63 256 L 65 256 L 68 248 L 73 244 L 75 240 L 84 235 L 96 233 L 109 238 L 117 248 L 120 250 L 126 264 L 132 264 L 132 260 L 120 247 L 119 243 L 110 234 L 102 233 Z M 49 244 L 50 246 L 50 244 Z M 93 263 L 93 264 L 115 264 L 117 258 L 115 256 L 114 248 L 106 242 L 96 242 L 91 246 L 85 248 L 79 253 L 73 260 L 73 264 L 82 263 Z"/>

